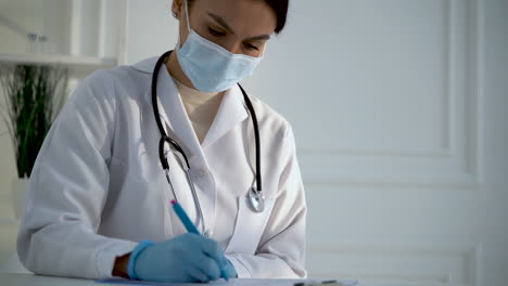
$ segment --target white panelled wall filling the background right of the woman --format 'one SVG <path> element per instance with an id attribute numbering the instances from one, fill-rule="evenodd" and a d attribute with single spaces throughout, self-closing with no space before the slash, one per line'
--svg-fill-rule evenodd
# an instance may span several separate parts
<path id="1" fill-rule="evenodd" d="M 508 1 L 291 1 L 247 81 L 293 123 L 310 276 L 508 285 Z"/>

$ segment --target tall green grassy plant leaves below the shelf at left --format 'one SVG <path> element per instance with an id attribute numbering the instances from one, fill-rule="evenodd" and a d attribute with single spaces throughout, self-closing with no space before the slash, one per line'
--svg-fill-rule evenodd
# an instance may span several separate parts
<path id="1" fill-rule="evenodd" d="M 15 151 L 17 174 L 29 178 L 52 121 L 63 106 L 68 70 L 42 65 L 4 65 L 1 113 Z"/>

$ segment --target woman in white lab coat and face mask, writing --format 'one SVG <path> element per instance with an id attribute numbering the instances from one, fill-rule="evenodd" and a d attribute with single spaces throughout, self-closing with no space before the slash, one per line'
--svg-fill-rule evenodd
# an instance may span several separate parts
<path id="1" fill-rule="evenodd" d="M 288 0 L 174 0 L 173 52 L 86 78 L 34 167 L 17 238 L 37 274 L 166 282 L 305 277 L 288 121 L 238 84 Z M 201 235 L 188 233 L 170 202 Z"/>

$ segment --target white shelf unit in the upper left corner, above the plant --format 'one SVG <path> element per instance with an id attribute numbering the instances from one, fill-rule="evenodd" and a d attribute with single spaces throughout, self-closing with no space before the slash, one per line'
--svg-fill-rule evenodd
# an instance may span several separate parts
<path id="1" fill-rule="evenodd" d="M 124 0 L 0 0 L 0 62 L 86 74 L 123 64 L 126 15 Z"/>

